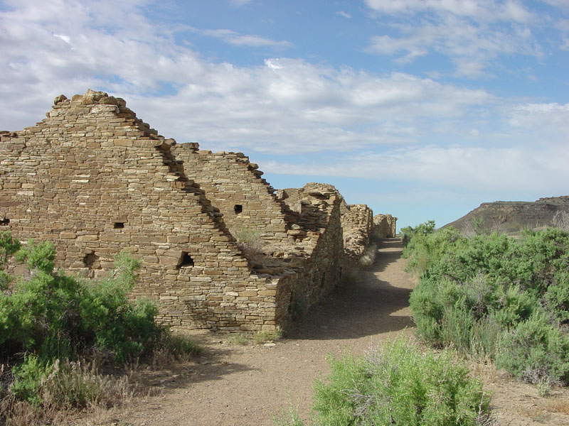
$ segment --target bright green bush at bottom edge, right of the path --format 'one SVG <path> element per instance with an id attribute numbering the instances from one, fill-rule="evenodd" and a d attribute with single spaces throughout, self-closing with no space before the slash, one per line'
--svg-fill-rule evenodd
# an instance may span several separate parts
<path id="1" fill-rule="evenodd" d="M 317 425 L 491 424 L 489 395 L 451 351 L 423 354 L 400 338 L 362 358 L 348 354 L 329 363 L 329 378 L 314 385 Z"/>

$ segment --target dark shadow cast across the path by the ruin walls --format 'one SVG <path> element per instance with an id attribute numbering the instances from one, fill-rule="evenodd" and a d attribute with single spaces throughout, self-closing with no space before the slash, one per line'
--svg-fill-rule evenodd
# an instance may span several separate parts
<path id="1" fill-rule="evenodd" d="M 373 267 L 361 271 L 355 283 L 336 288 L 287 333 L 287 338 L 356 339 L 414 327 L 408 311 L 398 312 L 409 306 L 412 289 L 375 275 L 397 261 L 402 250 L 400 239 L 382 240 Z"/>

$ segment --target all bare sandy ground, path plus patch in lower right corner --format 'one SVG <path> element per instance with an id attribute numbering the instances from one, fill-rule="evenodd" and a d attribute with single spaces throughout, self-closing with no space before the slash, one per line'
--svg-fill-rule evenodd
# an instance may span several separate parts
<path id="1" fill-rule="evenodd" d="M 326 356 L 363 354 L 398 334 L 413 336 L 399 239 L 382 241 L 376 263 L 355 283 L 337 288 L 276 344 L 243 344 L 223 334 L 196 333 L 206 351 L 196 361 L 141 377 L 158 395 L 127 408 L 97 413 L 79 423 L 130 426 L 275 425 L 274 417 L 298 411 L 310 417 L 312 383 L 329 373 Z M 569 425 L 569 392 L 541 398 L 535 386 L 512 380 L 492 366 L 471 364 L 494 392 L 499 425 Z M 565 414 L 558 413 L 565 410 Z"/>

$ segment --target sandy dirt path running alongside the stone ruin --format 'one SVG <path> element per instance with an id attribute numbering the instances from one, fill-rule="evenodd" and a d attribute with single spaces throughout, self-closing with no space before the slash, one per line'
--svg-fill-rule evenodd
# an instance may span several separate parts
<path id="1" fill-rule="evenodd" d="M 390 334 L 413 329 L 413 283 L 401 251 L 399 239 L 383 241 L 370 271 L 336 289 L 275 346 L 240 346 L 226 336 L 197 334 L 208 348 L 205 356 L 156 377 L 156 383 L 165 380 L 164 392 L 139 401 L 122 419 L 133 426 L 274 425 L 273 417 L 290 403 L 309 417 L 314 378 L 329 371 L 326 354 L 361 354 Z"/>

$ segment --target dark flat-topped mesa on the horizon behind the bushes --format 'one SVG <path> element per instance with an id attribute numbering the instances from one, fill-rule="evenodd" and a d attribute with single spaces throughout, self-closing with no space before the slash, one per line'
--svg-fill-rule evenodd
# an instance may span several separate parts
<path id="1" fill-rule="evenodd" d="M 534 202 L 483 202 L 472 212 L 442 227 L 454 226 L 462 233 L 475 231 L 474 226 L 480 230 L 516 234 L 526 228 L 559 226 L 558 221 L 563 214 L 569 214 L 569 196 L 567 195 L 540 198 Z"/>

